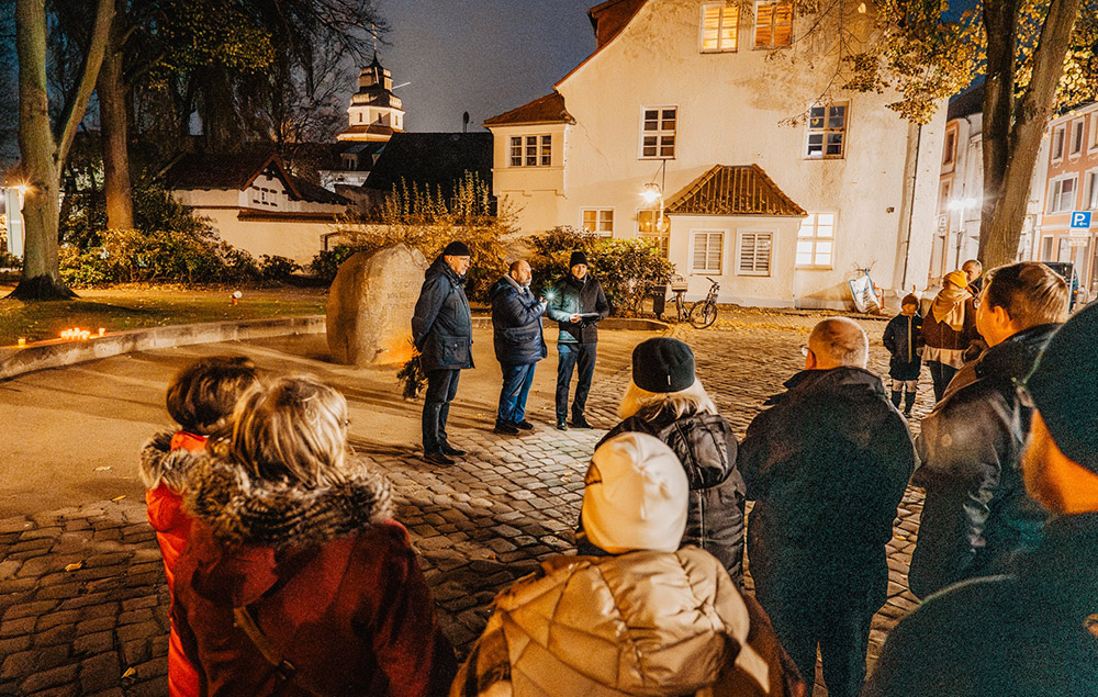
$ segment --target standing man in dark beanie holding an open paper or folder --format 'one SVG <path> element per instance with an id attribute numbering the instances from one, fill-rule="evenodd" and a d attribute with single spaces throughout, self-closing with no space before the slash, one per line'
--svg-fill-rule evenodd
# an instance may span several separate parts
<path id="1" fill-rule="evenodd" d="M 572 401 L 572 427 L 591 428 L 583 417 L 595 372 L 595 347 L 598 341 L 601 319 L 610 314 L 610 306 L 603 294 L 603 286 L 587 273 L 587 256 L 573 251 L 569 260 L 569 274 L 552 290 L 549 318 L 557 322 L 557 428 L 568 430 L 568 389 L 572 371 L 579 363 L 580 371 Z"/>

